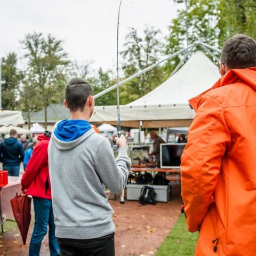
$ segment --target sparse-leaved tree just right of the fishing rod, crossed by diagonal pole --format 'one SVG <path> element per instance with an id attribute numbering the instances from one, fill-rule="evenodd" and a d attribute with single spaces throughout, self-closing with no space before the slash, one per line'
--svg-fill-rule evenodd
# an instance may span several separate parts
<path id="1" fill-rule="evenodd" d="M 156 63 L 162 55 L 163 45 L 158 39 L 160 31 L 153 27 L 146 27 L 143 38 L 138 35 L 138 30 L 132 28 L 126 35 L 125 50 L 122 69 L 124 76 L 129 77 L 139 70 Z M 163 82 L 164 72 L 162 67 L 155 67 L 120 87 L 120 102 L 122 104 L 136 100 L 153 90 Z"/>

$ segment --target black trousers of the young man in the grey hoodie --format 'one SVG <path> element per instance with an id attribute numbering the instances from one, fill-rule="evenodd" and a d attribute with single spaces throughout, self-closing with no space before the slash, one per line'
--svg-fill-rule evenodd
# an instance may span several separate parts
<path id="1" fill-rule="evenodd" d="M 57 238 L 60 256 L 115 256 L 114 233 L 93 239 Z"/>

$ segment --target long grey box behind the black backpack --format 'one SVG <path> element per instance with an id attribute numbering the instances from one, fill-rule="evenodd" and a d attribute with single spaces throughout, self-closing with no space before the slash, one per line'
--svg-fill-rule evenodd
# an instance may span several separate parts
<path id="1" fill-rule="evenodd" d="M 156 193 L 156 202 L 168 202 L 171 199 L 170 185 L 141 185 L 141 184 L 127 184 L 126 185 L 126 199 L 139 201 L 140 190 L 143 186 L 153 187 Z"/>

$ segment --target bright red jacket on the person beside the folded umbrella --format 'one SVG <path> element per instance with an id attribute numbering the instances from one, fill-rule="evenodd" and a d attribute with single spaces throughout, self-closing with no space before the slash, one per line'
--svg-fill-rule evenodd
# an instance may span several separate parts
<path id="1" fill-rule="evenodd" d="M 22 176 L 21 187 L 22 190 L 27 189 L 27 195 L 52 199 L 47 151 L 50 138 L 40 134 L 37 140 L 39 142 L 34 148 L 26 172 Z"/>

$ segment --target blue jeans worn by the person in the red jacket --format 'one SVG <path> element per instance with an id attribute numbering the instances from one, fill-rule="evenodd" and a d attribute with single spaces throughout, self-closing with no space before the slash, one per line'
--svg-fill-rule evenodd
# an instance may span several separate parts
<path id="1" fill-rule="evenodd" d="M 59 256 L 60 249 L 55 237 L 55 225 L 53 220 L 52 201 L 39 197 L 33 197 L 35 209 L 35 226 L 29 244 L 29 256 L 39 256 L 41 243 L 49 226 L 49 249 L 51 256 Z"/>

